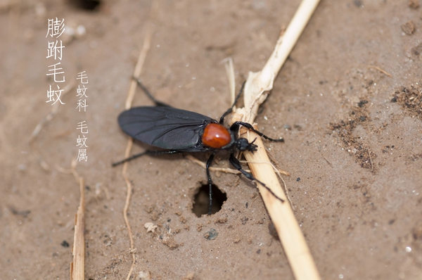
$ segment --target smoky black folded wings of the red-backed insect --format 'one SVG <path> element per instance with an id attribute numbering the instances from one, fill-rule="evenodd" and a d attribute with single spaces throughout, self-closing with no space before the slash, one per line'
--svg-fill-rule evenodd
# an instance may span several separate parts
<path id="1" fill-rule="evenodd" d="M 207 151 L 200 142 L 210 117 L 172 107 L 136 107 L 119 116 L 119 125 L 129 136 L 145 144 L 177 151 Z"/>

